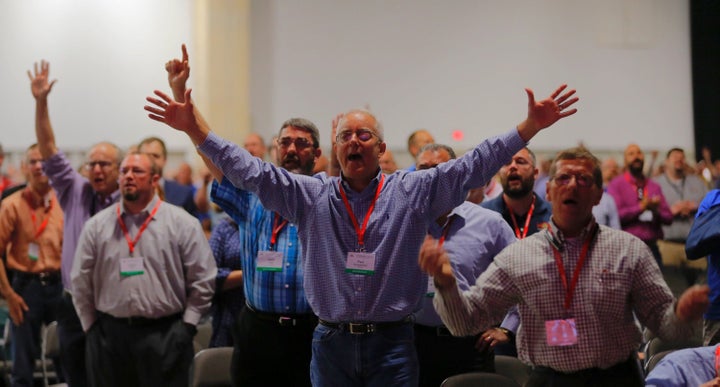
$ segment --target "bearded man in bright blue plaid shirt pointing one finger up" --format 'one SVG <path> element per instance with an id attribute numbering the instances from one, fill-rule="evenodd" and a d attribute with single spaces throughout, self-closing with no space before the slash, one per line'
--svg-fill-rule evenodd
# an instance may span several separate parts
<path id="1" fill-rule="evenodd" d="M 190 75 L 184 45 L 182 60 L 169 61 L 166 69 L 173 95 L 184 100 Z M 247 144 L 246 140 L 250 154 L 262 159 Z M 318 129 L 308 120 L 289 119 L 281 125 L 275 148 L 278 165 L 292 173 L 311 175 L 321 153 Z M 222 171 L 204 160 L 215 177 L 213 202 L 240 230 L 243 271 L 221 273 L 223 278 L 218 278 L 223 287 L 244 286 L 246 297 L 246 306 L 232 324 L 233 384 L 310 386 L 310 350 L 317 317 L 305 297 L 297 225 L 265 209 L 257 195 L 235 187 Z"/>

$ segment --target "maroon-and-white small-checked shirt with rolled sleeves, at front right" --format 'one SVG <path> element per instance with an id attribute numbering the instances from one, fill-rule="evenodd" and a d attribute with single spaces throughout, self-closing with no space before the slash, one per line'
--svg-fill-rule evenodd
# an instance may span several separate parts
<path id="1" fill-rule="evenodd" d="M 594 224 L 573 239 L 556 233 L 564 247 L 561 255 L 568 282 Z M 566 293 L 548 237 L 544 230 L 503 250 L 467 292 L 457 287 L 438 289 L 434 305 L 451 332 L 460 336 L 481 332 L 519 304 L 518 357 L 560 372 L 608 368 L 626 361 L 641 342 L 633 312 L 661 338 L 691 333 L 692 326 L 675 316 L 673 295 L 647 246 L 606 226 L 600 226 L 565 310 Z M 545 322 L 564 318 L 575 319 L 578 342 L 547 345 Z"/>

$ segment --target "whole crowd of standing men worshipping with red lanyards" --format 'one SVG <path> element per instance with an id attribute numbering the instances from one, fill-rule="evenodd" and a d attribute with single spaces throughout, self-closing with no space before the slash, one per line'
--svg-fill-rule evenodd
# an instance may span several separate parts
<path id="1" fill-rule="evenodd" d="M 238 386 L 439 386 L 494 372 L 495 355 L 531 366 L 529 386 L 643 385 L 641 328 L 687 337 L 706 313 L 704 344 L 720 342 L 717 241 L 685 252 L 718 202 L 709 154 L 699 172 L 680 148 L 646 166 L 636 144 L 622 169 L 584 146 L 540 159 L 530 139 L 577 112 L 565 85 L 541 100 L 526 89 L 526 117 L 463 155 L 413 132 L 405 169 L 362 109 L 331 120 L 328 155 L 303 118 L 240 146 L 195 106 L 189 63 L 183 46 L 165 66 L 171 95 L 145 109 L 196 146 L 195 178 L 166 170 L 159 137 L 101 142 L 71 165 L 50 65 L 28 71 L 27 182 L 0 180 L 12 385 L 33 385 L 51 321 L 70 386 L 185 386 L 204 319 L 211 346 L 234 348 Z"/>

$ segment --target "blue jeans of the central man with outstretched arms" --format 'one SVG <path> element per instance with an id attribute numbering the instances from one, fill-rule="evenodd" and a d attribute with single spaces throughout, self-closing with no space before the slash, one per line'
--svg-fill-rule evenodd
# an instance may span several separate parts
<path id="1" fill-rule="evenodd" d="M 360 335 L 318 324 L 310 379 L 315 387 L 416 387 L 418 359 L 412 324 Z"/>

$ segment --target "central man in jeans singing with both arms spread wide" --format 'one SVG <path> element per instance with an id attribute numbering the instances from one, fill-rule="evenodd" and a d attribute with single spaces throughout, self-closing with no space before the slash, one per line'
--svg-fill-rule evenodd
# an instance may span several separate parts
<path id="1" fill-rule="evenodd" d="M 333 151 L 341 176 L 289 173 L 211 132 L 186 92 L 185 102 L 155 91 L 149 116 L 185 132 L 233 185 L 298 224 L 306 257 L 305 291 L 319 322 L 313 337 L 314 386 L 418 382 L 412 313 L 427 290 L 417 254 L 428 226 L 460 205 L 540 130 L 574 114 L 575 90 L 528 97 L 527 118 L 504 135 L 426 171 L 381 173 L 384 132 L 366 110 L 337 126 Z M 348 350 L 352 348 L 352 350 Z"/>

